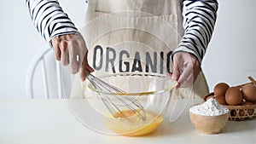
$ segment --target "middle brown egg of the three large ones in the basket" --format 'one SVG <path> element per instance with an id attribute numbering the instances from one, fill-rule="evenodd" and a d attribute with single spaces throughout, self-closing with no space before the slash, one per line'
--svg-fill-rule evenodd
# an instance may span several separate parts
<path id="1" fill-rule="evenodd" d="M 225 101 L 232 106 L 240 105 L 243 101 L 241 90 L 237 87 L 230 87 L 225 94 Z"/>

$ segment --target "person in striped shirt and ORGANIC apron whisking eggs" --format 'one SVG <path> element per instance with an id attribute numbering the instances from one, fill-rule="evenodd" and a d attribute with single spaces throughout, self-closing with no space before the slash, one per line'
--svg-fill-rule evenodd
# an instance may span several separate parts
<path id="1" fill-rule="evenodd" d="M 208 93 L 201 60 L 212 37 L 218 9 L 216 0 L 89 0 L 85 3 L 88 4 L 86 25 L 79 32 L 56 0 L 26 0 L 32 21 L 53 46 L 56 60 L 61 60 L 63 66 L 70 63 L 72 72 L 79 72 L 82 81 L 94 69 L 171 72 L 178 87 L 194 86 L 193 97 Z M 107 31 L 100 27 L 109 30 L 103 37 L 100 37 L 102 32 Z M 122 31 L 117 32 L 120 28 Z M 124 41 L 138 43 L 119 44 Z M 142 51 L 130 49 L 132 44 Z M 131 51 L 124 53 L 122 49 Z M 132 60 L 125 61 L 124 57 Z M 137 66 L 142 59 L 146 66 Z M 165 64 L 159 62 L 162 60 Z"/>

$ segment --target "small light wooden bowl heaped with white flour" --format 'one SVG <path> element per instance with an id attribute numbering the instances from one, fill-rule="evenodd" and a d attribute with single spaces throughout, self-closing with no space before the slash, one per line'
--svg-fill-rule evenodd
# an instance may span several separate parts
<path id="1" fill-rule="evenodd" d="M 195 129 L 201 134 L 218 134 L 229 119 L 229 109 L 213 98 L 201 105 L 189 108 L 189 117 Z"/>

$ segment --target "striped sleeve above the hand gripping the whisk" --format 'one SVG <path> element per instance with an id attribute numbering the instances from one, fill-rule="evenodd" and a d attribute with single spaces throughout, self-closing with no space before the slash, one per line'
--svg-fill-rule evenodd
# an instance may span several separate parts
<path id="1" fill-rule="evenodd" d="M 52 37 L 79 33 L 57 0 L 26 0 L 32 22 L 47 42 Z"/>

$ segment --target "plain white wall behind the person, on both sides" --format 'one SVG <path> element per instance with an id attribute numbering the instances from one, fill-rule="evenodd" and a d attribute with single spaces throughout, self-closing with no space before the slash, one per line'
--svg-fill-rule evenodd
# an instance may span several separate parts
<path id="1" fill-rule="evenodd" d="M 84 0 L 60 0 L 81 28 Z M 219 0 L 218 20 L 202 68 L 210 90 L 220 81 L 230 85 L 256 78 L 255 0 Z M 32 57 L 47 44 L 32 26 L 25 0 L 0 2 L 0 98 L 25 98 L 26 71 Z M 42 83 L 37 79 L 37 83 Z"/>

